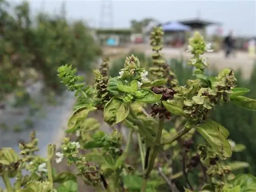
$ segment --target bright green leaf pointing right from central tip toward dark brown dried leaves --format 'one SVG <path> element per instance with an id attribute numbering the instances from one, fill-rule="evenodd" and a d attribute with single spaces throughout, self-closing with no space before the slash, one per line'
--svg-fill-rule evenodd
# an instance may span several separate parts
<path id="1" fill-rule="evenodd" d="M 158 102 L 161 98 L 162 98 L 162 95 L 155 94 L 153 91 L 148 89 L 140 89 L 135 94 L 135 99 L 143 103 Z"/>

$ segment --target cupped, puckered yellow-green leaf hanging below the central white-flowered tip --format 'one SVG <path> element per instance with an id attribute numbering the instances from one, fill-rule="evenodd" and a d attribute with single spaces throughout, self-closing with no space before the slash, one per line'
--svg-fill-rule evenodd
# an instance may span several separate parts
<path id="1" fill-rule="evenodd" d="M 112 98 L 104 107 L 104 121 L 114 125 L 123 121 L 129 114 L 129 104 L 120 99 Z"/>

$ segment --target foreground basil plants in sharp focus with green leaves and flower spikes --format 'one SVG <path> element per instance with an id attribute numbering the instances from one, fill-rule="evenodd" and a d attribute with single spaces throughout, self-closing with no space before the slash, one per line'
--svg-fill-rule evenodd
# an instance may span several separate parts
<path id="1" fill-rule="evenodd" d="M 187 79 L 185 86 L 180 86 L 160 54 L 162 35 L 161 28 L 152 32 L 154 54 L 150 78 L 134 55 L 126 57 L 119 76 L 114 77 L 108 75 L 109 61 L 105 59 L 100 70 L 94 71 L 92 87 L 79 82 L 81 77 L 75 75 L 72 66 L 59 67 L 62 83 L 75 92 L 79 101 L 67 130 L 75 133 L 77 140 L 63 138 L 57 153 L 55 146 L 49 144 L 47 158 L 34 155 L 38 148 L 33 134 L 29 143 L 19 144 L 22 150 L 19 155 L 11 148 L 2 148 L 0 173 L 6 190 L 77 191 L 78 176 L 100 191 L 158 191 L 165 183 L 168 189 L 164 191 L 181 191 L 173 182 L 181 177 L 186 181 L 182 186 L 185 191 L 253 191 L 255 177 L 246 174 L 235 177 L 231 173 L 231 166 L 235 169 L 245 164 L 227 164 L 232 152 L 245 147 L 228 140 L 228 130 L 211 120 L 210 114 L 216 106 L 227 102 L 255 111 L 256 100 L 243 96 L 249 90 L 236 87 L 232 70 L 224 69 L 217 76 L 206 75 L 208 61 L 203 54 L 212 50 L 199 33 L 189 40 L 188 46 L 192 53 L 188 65 L 195 68 L 194 79 Z M 111 133 L 100 131 L 99 123 L 88 118 L 96 110 L 103 112 L 104 121 L 113 128 Z M 176 119 L 175 125 L 165 130 L 164 123 L 170 118 Z M 120 123 L 129 130 L 128 135 L 120 132 Z M 201 135 L 201 140 L 193 148 L 196 134 Z M 134 135 L 139 151 L 135 161 Z M 82 155 L 80 149 L 91 152 Z M 67 159 L 68 164 L 75 165 L 76 176 L 54 173 L 51 166 L 54 155 L 56 163 Z M 183 165 L 178 172 L 175 172 L 176 161 Z M 22 169 L 32 174 L 23 176 Z M 189 173 L 195 170 L 199 180 L 191 184 Z M 9 181 L 12 177 L 16 177 L 14 186 Z M 61 185 L 55 189 L 55 183 Z"/>

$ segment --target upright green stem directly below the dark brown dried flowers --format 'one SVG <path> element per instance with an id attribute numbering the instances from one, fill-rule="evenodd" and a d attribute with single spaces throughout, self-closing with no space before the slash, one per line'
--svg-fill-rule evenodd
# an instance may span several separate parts
<path id="1" fill-rule="evenodd" d="M 148 164 L 148 168 L 146 170 L 146 178 L 148 177 L 148 175 L 150 175 L 153 167 L 154 167 L 154 163 L 155 163 L 155 159 L 157 157 L 157 154 L 159 152 L 159 149 L 160 149 L 160 142 L 161 142 L 161 137 L 162 137 L 162 132 L 163 132 L 163 123 L 164 123 L 164 118 L 160 118 L 159 119 L 159 127 L 158 127 L 158 132 L 157 132 L 157 138 L 156 138 L 156 141 L 155 141 L 155 146 L 154 146 L 154 150 L 153 150 L 153 153 L 151 155 L 151 158 L 150 158 L 150 163 Z"/>

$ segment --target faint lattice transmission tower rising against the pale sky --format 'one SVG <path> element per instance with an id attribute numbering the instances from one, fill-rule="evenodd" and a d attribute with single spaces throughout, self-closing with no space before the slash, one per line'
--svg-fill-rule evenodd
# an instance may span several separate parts
<path id="1" fill-rule="evenodd" d="M 102 0 L 100 8 L 99 28 L 114 28 L 114 15 L 111 0 Z"/>

